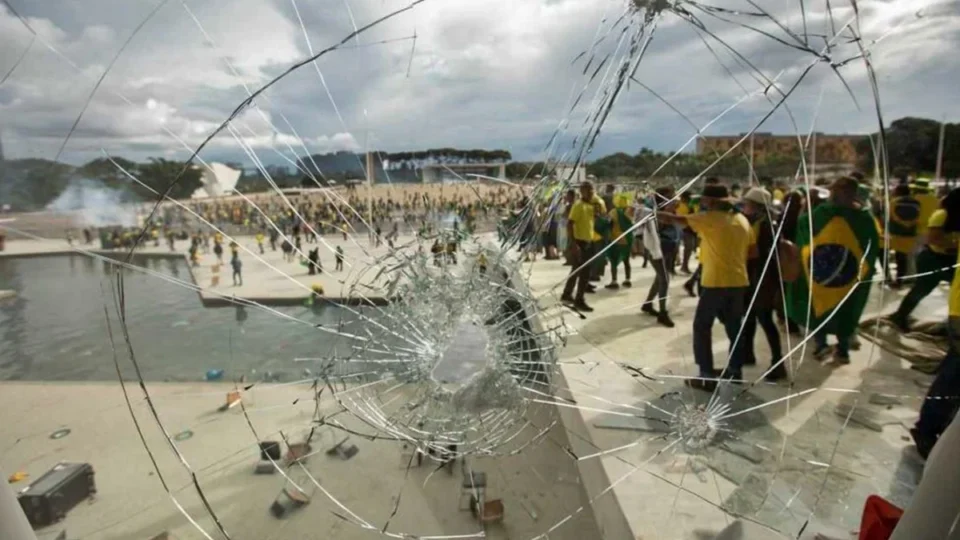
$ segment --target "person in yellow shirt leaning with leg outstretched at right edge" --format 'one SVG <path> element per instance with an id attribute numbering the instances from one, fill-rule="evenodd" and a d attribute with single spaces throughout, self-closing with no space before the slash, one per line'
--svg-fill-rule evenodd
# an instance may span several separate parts
<path id="1" fill-rule="evenodd" d="M 960 188 L 944 197 L 940 209 L 927 222 L 927 245 L 917 255 L 917 274 L 913 287 L 903 297 L 890 321 L 903 331 L 910 329 L 910 314 L 941 281 L 952 281 L 960 239 Z"/>

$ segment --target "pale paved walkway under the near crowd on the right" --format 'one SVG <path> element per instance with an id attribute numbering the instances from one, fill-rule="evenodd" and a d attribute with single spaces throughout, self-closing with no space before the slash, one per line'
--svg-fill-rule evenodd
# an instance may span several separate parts
<path id="1" fill-rule="evenodd" d="M 807 534 L 848 538 L 859 526 L 867 495 L 909 501 L 921 465 L 907 428 L 931 378 L 866 340 L 847 366 L 813 360 L 811 343 L 807 356 L 800 351 L 791 356 L 791 383 L 761 383 L 746 393 L 740 386 L 722 387 L 720 402 L 741 412 L 728 420 L 728 431 L 705 451 L 675 443 L 677 428 L 657 421 L 673 418 L 661 411 L 679 414 L 709 399 L 682 385 L 683 377 L 697 373 L 691 332 L 696 299 L 682 288 L 686 276 L 681 275 L 671 282 L 668 302 L 676 327 L 641 315 L 653 272 L 638 268 L 640 261 L 633 260 L 633 288 L 608 291 L 602 288 L 606 281 L 598 284 L 598 292 L 587 298 L 596 311 L 584 319 L 557 303 L 562 285 L 554 286 L 568 267 L 557 261 L 527 265 L 544 309 L 543 324 L 562 322 L 573 332 L 559 366 L 567 393 L 561 390 L 558 397 L 576 403 L 564 407 L 564 419 L 578 453 L 602 454 L 581 457 L 580 469 L 588 495 L 597 497 L 601 528 L 618 531 L 608 538 L 712 538 L 736 516 L 793 538 L 810 518 Z M 935 292 L 918 313 L 945 318 L 945 291 L 946 286 Z M 903 294 L 875 285 L 867 313 L 892 310 Z M 782 337 L 789 339 L 785 350 L 800 339 Z M 713 343 L 715 362 L 722 367 L 729 342 L 719 324 Z M 751 381 L 769 367 L 760 331 L 756 351 L 761 365 L 745 370 Z M 649 378 L 623 366 L 641 369 Z M 657 418 L 639 418 L 651 416 Z M 608 489 L 612 497 L 597 496 Z M 773 535 L 768 530 L 761 538 Z"/>

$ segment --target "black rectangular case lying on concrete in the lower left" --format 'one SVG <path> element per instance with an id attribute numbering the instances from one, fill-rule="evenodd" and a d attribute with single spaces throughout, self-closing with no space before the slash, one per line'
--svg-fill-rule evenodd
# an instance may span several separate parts
<path id="1" fill-rule="evenodd" d="M 46 527 L 96 492 L 89 463 L 58 463 L 21 491 L 17 499 L 31 525 Z"/>

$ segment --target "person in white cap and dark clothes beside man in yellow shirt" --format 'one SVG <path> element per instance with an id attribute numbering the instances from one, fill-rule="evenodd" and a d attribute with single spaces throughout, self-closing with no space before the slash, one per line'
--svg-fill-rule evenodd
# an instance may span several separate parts
<path id="1" fill-rule="evenodd" d="M 787 369 L 781 362 L 783 351 L 780 348 L 780 330 L 773 322 L 773 312 L 781 302 L 780 272 L 775 235 L 778 224 L 773 213 L 773 196 L 761 187 L 750 188 L 743 196 L 743 214 L 750 221 L 753 236 L 756 239 L 756 256 L 747 261 L 747 274 L 750 276 L 750 288 L 744 300 L 747 315 L 743 320 L 744 364 L 755 365 L 754 336 L 757 324 L 763 327 L 770 345 L 771 366 L 767 374 L 769 381 L 779 381 L 787 377 Z"/>

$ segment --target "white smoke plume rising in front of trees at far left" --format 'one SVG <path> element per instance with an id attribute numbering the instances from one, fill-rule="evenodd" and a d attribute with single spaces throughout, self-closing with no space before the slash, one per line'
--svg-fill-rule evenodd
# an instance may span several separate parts
<path id="1" fill-rule="evenodd" d="M 47 210 L 76 213 L 84 227 L 137 225 L 137 212 L 128 193 L 88 178 L 72 179 Z"/>

